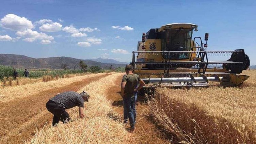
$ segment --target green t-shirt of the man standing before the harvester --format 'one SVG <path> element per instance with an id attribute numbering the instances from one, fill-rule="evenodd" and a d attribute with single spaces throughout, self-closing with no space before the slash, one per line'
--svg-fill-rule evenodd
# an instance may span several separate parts
<path id="1" fill-rule="evenodd" d="M 140 81 L 140 76 L 137 74 L 123 76 L 122 82 L 126 82 L 124 86 L 125 95 L 123 96 L 123 98 L 134 97 L 134 89 L 139 81 Z"/>

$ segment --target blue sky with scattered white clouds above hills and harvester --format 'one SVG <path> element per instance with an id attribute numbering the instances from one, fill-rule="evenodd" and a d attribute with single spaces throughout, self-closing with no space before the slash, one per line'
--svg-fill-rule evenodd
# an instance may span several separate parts
<path id="1" fill-rule="evenodd" d="M 1 0 L 0 53 L 130 62 L 142 32 L 194 23 L 208 50 L 245 49 L 256 65 L 255 15 L 254 0 Z"/>

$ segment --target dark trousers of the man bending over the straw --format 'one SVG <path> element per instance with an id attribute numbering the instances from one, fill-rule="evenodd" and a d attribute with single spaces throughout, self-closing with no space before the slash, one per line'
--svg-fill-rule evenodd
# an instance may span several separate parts
<path id="1" fill-rule="evenodd" d="M 63 124 L 65 122 L 70 121 L 70 117 L 68 115 L 68 112 L 66 112 L 66 109 L 61 108 L 54 101 L 49 100 L 46 103 L 46 108 L 49 112 L 51 112 L 54 115 L 52 119 L 52 126 L 55 126 L 56 124 L 58 124 L 59 121 L 61 121 Z"/>

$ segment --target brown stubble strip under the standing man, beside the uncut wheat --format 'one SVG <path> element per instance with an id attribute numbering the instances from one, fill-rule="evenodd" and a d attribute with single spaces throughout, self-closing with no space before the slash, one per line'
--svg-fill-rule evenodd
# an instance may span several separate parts
<path id="1" fill-rule="evenodd" d="M 115 80 L 115 85 L 108 89 L 107 98 L 111 100 L 112 106 L 115 107 L 115 111 L 123 116 L 123 99 L 120 95 L 120 84 L 122 76 L 119 76 Z M 148 113 L 148 105 L 145 102 L 145 98 L 138 96 L 136 104 L 137 118 L 135 131 L 132 133 L 130 143 L 134 144 L 169 144 L 170 141 L 156 128 L 146 114 Z"/>

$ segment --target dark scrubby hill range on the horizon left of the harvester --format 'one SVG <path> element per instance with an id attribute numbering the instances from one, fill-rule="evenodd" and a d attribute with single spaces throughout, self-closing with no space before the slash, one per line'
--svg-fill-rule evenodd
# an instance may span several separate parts
<path id="1" fill-rule="evenodd" d="M 113 65 L 117 67 L 125 67 L 125 64 L 102 63 L 92 60 L 82 60 L 88 67 L 99 66 L 100 68 L 110 68 Z M 79 68 L 80 59 L 70 57 L 51 57 L 51 58 L 30 58 L 24 55 L 16 54 L 0 54 L 0 65 L 12 66 L 14 68 L 50 68 L 61 69 L 63 67 L 70 69 Z"/>

